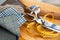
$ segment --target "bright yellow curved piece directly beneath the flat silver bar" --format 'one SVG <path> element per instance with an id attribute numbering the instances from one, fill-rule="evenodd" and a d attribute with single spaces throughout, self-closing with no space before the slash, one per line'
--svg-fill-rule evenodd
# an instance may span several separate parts
<path id="1" fill-rule="evenodd" d="M 58 35 L 57 32 L 53 32 L 52 30 L 44 28 L 42 27 L 42 25 L 38 25 L 37 30 L 40 33 L 40 36 L 42 37 L 56 37 Z"/>

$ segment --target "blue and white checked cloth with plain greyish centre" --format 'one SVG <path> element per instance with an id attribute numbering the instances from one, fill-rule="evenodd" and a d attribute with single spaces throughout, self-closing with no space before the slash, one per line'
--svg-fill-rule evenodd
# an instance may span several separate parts
<path id="1" fill-rule="evenodd" d="M 13 7 L 5 8 L 0 12 L 0 25 L 16 35 L 20 34 L 19 27 L 25 22 L 22 14 Z"/>

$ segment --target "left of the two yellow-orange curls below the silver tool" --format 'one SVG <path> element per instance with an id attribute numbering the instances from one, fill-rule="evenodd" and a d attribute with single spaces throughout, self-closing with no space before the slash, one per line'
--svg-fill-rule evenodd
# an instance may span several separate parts
<path id="1" fill-rule="evenodd" d="M 36 30 L 36 26 L 37 26 L 38 24 L 36 24 L 35 22 L 31 22 L 31 23 L 29 23 L 28 25 L 27 25 L 27 31 L 30 33 L 30 34 L 32 34 L 33 36 L 37 36 L 37 35 L 39 35 L 38 33 L 37 33 L 37 30 Z"/>

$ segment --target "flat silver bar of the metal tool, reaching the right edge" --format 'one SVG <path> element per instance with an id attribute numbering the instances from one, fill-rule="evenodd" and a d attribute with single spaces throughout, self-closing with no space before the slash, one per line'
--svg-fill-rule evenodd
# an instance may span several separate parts
<path id="1" fill-rule="evenodd" d="M 45 21 L 44 27 L 60 33 L 60 25 Z"/>

